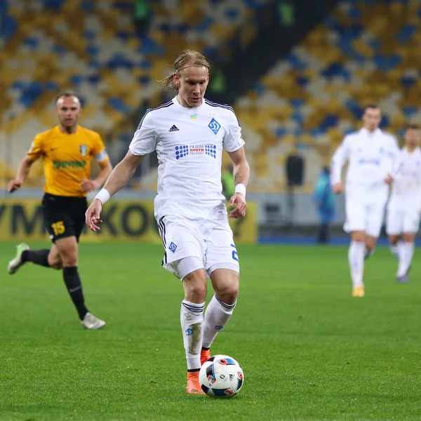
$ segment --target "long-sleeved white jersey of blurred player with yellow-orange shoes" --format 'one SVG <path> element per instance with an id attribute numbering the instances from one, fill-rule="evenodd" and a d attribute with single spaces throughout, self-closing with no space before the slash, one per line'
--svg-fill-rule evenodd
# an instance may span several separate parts
<path id="1" fill-rule="evenodd" d="M 400 150 L 396 138 L 377 128 L 370 133 L 366 128 L 346 135 L 332 158 L 331 182 L 340 182 L 342 167 L 349 161 L 347 185 L 363 189 L 386 189 L 388 174 L 398 176 Z"/>

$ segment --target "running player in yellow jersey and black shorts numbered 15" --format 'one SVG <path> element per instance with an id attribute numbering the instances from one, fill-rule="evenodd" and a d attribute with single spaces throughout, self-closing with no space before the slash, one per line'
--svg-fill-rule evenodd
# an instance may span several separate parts
<path id="1" fill-rule="evenodd" d="M 27 156 L 18 168 L 15 180 L 8 183 L 8 192 L 18 190 L 27 178 L 32 163 L 44 159 L 44 223 L 50 234 L 51 249 L 29 250 L 19 244 L 16 257 L 9 262 L 8 272 L 14 274 L 25 262 L 63 269 L 63 278 L 82 325 L 88 329 L 105 326 L 105 321 L 93 316 L 85 306 L 81 279 L 77 270 L 78 241 L 85 225 L 86 194 L 101 187 L 112 171 L 100 135 L 79 126 L 81 102 L 73 93 L 60 93 L 55 115 L 58 126 L 39 133 Z M 95 158 L 101 171 L 90 180 L 91 161 Z"/>

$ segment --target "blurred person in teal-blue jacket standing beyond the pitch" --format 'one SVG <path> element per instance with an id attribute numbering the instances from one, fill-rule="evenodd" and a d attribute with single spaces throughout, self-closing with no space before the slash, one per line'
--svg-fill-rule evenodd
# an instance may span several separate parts
<path id="1" fill-rule="evenodd" d="M 317 242 L 326 244 L 329 242 L 329 224 L 335 219 L 335 196 L 330 185 L 329 167 L 324 167 L 317 178 L 313 199 L 320 219 Z"/>

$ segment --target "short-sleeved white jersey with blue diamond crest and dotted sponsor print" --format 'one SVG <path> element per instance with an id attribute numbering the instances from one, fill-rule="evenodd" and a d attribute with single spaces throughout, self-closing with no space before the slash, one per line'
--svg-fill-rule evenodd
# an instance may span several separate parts
<path id="1" fill-rule="evenodd" d="M 228 105 L 203 99 L 199 107 L 182 107 L 177 97 L 148 109 L 129 149 L 134 155 L 158 155 L 155 217 L 227 218 L 222 195 L 222 149 L 243 147 L 241 127 Z"/>

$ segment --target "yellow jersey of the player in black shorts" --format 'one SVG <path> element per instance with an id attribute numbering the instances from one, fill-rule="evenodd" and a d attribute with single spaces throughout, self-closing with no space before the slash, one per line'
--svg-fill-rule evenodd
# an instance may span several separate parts
<path id="1" fill-rule="evenodd" d="M 46 185 L 44 191 L 58 196 L 86 196 L 81 180 L 90 178 L 92 158 L 98 163 L 109 160 L 98 133 L 78 126 L 76 133 L 67 134 L 59 126 L 39 133 L 28 151 L 29 159 L 44 159 Z"/>

